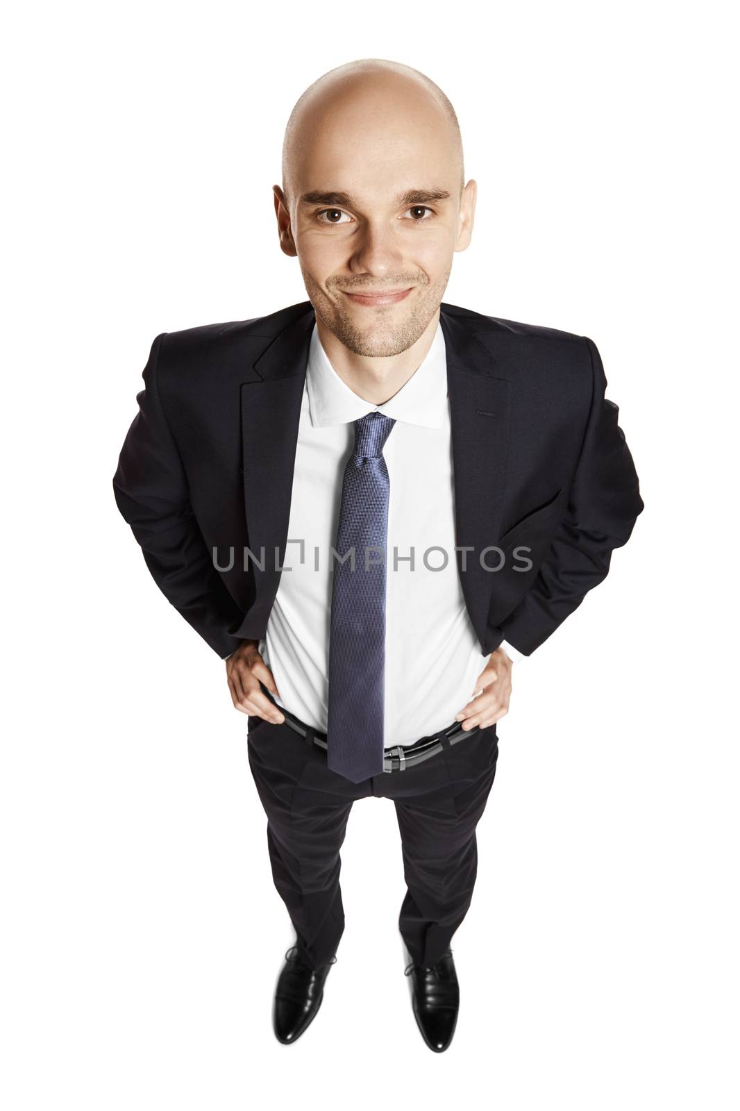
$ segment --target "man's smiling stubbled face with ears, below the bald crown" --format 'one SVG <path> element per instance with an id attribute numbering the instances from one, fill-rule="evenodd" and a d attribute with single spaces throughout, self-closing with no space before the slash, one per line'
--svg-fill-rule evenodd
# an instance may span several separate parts
<path id="1" fill-rule="evenodd" d="M 298 254 L 317 318 L 370 357 L 399 354 L 420 338 L 474 210 L 474 181 L 460 198 L 447 122 L 392 108 L 366 100 L 324 113 L 293 161 L 288 197 L 274 187 L 281 246 Z"/>

